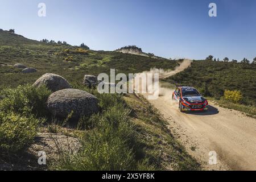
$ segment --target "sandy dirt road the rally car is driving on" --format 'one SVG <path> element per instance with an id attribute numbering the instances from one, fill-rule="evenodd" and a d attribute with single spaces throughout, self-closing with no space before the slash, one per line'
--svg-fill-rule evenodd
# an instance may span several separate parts
<path id="1" fill-rule="evenodd" d="M 180 113 L 177 102 L 171 100 L 172 90 L 161 89 L 161 97 L 149 101 L 167 119 L 170 130 L 189 154 L 203 163 L 204 169 L 256 170 L 256 119 L 212 102 L 206 113 Z M 210 151 L 217 153 L 217 164 L 209 164 Z"/>

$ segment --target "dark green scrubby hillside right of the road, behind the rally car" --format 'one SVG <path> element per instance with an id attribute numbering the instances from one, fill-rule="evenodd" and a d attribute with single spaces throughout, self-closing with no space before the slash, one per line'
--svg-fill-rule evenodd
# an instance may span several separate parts
<path id="1" fill-rule="evenodd" d="M 242 104 L 256 103 L 256 64 L 194 61 L 191 67 L 167 79 L 176 84 L 195 86 L 204 96 L 220 98 L 224 91 L 241 90 Z"/>

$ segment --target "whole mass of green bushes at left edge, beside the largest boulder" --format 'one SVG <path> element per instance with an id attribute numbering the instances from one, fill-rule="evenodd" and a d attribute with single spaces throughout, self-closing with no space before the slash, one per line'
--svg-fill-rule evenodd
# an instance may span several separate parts
<path id="1" fill-rule="evenodd" d="M 45 103 L 51 92 L 44 86 L 31 85 L 5 89 L 0 100 L 0 150 L 1 154 L 15 154 L 31 144 L 40 123 L 48 111 Z M 0 154 L 0 156 L 1 156 Z"/>

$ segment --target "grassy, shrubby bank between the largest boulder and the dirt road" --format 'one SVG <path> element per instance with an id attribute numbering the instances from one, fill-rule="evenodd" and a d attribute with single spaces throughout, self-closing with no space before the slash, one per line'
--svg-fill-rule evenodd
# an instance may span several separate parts
<path id="1" fill-rule="evenodd" d="M 160 115 L 150 104 L 144 104 L 146 101 L 133 95 L 98 94 L 94 89 L 76 88 L 95 94 L 102 112 L 84 120 L 87 129 L 80 137 L 79 152 L 61 150 L 51 169 L 200 169 L 199 163 L 172 137 Z M 163 139 L 165 143 L 159 144 Z M 168 159 L 162 157 L 162 152 L 166 152 Z"/>

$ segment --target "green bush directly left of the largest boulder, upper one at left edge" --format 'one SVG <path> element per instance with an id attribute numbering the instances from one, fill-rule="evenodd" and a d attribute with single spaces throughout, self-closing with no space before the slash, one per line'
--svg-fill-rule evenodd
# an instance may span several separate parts
<path id="1" fill-rule="evenodd" d="M 20 85 L 14 89 L 5 89 L 1 92 L 3 100 L 0 101 L 0 110 L 44 117 L 48 115 L 46 101 L 50 94 L 51 91 L 46 86 L 36 88 L 32 85 Z"/>

